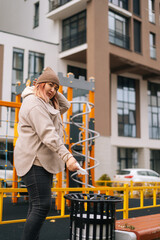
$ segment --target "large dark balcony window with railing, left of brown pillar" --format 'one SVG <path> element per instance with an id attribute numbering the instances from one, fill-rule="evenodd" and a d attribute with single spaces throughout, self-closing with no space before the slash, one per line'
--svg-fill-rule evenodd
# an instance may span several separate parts
<path id="1" fill-rule="evenodd" d="M 86 43 L 86 11 L 62 22 L 62 51 Z"/>

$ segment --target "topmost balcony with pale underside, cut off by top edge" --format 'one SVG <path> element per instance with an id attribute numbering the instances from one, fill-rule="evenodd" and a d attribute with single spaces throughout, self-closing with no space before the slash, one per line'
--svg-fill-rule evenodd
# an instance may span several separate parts
<path id="1" fill-rule="evenodd" d="M 47 18 L 61 20 L 86 9 L 88 0 L 50 0 Z"/>

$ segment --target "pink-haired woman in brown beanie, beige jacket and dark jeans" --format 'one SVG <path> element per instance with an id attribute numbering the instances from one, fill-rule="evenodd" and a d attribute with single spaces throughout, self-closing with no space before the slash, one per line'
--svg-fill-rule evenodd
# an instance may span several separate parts
<path id="1" fill-rule="evenodd" d="M 18 176 L 29 194 L 29 210 L 22 240 L 38 240 L 50 210 L 53 174 L 64 169 L 78 170 L 77 161 L 63 143 L 60 114 L 70 107 L 58 93 L 59 79 L 47 67 L 34 87 L 27 87 L 19 112 L 19 137 L 14 151 Z"/>

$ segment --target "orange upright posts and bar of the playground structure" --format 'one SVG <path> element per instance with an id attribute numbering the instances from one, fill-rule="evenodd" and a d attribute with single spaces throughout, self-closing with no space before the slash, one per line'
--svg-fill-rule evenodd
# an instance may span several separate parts
<path id="1" fill-rule="evenodd" d="M 70 77 L 72 77 L 73 80 L 70 80 Z M 91 80 L 93 82 L 93 78 L 91 78 Z M 69 81 L 68 86 L 64 84 L 64 86 L 67 86 L 67 99 L 68 99 L 68 101 L 73 101 L 73 89 L 74 88 L 77 89 L 77 87 L 75 87 L 74 75 L 72 73 L 67 74 L 66 82 L 68 82 L 68 81 Z M 78 80 L 77 82 L 78 82 L 78 84 L 79 83 L 81 84 L 81 80 Z M 86 82 L 87 81 L 82 81 L 82 85 Z M 17 86 L 20 86 L 21 89 L 23 89 L 23 88 L 25 88 L 25 86 L 30 86 L 30 85 L 31 85 L 31 80 L 27 80 L 26 84 L 22 84 L 22 86 L 21 86 L 20 83 L 18 83 Z M 79 86 L 81 87 L 81 85 L 79 85 Z M 83 89 L 85 89 L 85 88 L 83 88 Z M 63 85 L 60 86 L 59 92 L 63 93 Z M 18 114 L 19 114 L 19 109 L 20 109 L 20 106 L 21 106 L 20 92 L 17 93 L 17 94 L 18 95 L 16 96 L 16 102 L 0 101 L 0 106 L 15 108 L 13 146 L 15 146 L 16 140 L 17 140 L 17 137 L 18 137 L 18 131 L 17 131 Z M 88 90 L 88 101 L 94 104 L 94 88 L 91 89 L 91 90 Z M 86 109 L 85 109 L 85 106 L 84 106 L 83 107 L 83 112 L 85 112 L 85 110 Z M 71 118 L 72 114 L 73 114 L 73 111 L 72 111 L 72 105 L 71 105 L 70 109 L 67 112 L 67 122 L 68 123 L 70 123 L 70 118 Z M 94 119 L 94 108 L 90 112 L 89 118 Z M 83 116 L 83 122 L 84 122 L 84 126 L 86 126 L 86 124 L 89 124 L 88 122 L 86 122 L 85 116 Z M 73 143 L 71 143 L 72 139 L 70 137 L 70 131 L 71 131 L 70 124 L 66 124 L 65 131 L 66 131 L 65 144 L 67 145 L 69 151 L 71 151 L 71 147 L 72 147 Z M 82 133 L 82 139 L 84 140 L 86 137 L 87 136 L 85 136 L 85 133 L 83 132 Z M 82 153 L 84 153 L 84 152 L 85 152 L 85 144 L 83 143 Z M 94 145 L 91 147 L 90 155 L 91 155 L 91 157 L 94 157 Z M 94 162 L 93 160 L 90 160 L 89 165 L 93 166 L 94 165 L 93 162 Z M 14 166 L 14 159 L 13 159 L 13 166 Z M 62 173 L 57 174 L 56 178 L 57 178 L 56 187 L 61 188 L 62 187 Z M 92 178 L 92 185 L 94 186 L 94 169 L 91 169 L 91 178 Z M 84 177 L 82 177 L 82 180 L 83 180 L 83 182 L 85 182 Z M 13 168 L 13 184 L 12 184 L 12 187 L 17 188 L 17 186 L 18 186 L 18 177 L 17 177 L 16 170 L 15 170 L 15 167 L 14 167 Z M 69 171 L 68 171 L 68 169 L 66 169 L 66 187 L 69 187 Z M 16 192 L 12 193 L 12 202 L 13 203 L 17 202 L 17 193 Z M 57 194 L 56 208 L 57 208 L 57 210 L 60 210 L 60 208 L 61 208 L 61 192 L 58 192 L 58 194 Z"/>

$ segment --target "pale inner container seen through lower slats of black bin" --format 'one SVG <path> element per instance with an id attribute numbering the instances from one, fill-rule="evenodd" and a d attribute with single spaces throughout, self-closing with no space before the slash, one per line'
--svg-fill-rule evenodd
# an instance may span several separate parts
<path id="1" fill-rule="evenodd" d="M 77 217 L 80 217 L 80 214 L 77 214 Z M 97 215 L 96 218 L 100 219 L 100 215 Z M 83 222 L 83 219 L 87 218 L 87 214 L 82 214 L 81 220 Z M 90 214 L 89 215 L 90 219 L 94 219 L 94 215 Z M 103 216 L 103 219 L 107 219 L 106 216 Z M 88 240 L 92 240 L 93 239 L 93 228 L 94 225 L 93 224 L 89 224 L 89 238 Z M 75 233 L 76 230 L 76 233 Z M 87 225 L 85 223 L 83 223 L 83 229 L 82 229 L 82 238 L 81 240 L 85 240 L 86 239 L 86 231 L 87 231 Z M 75 229 L 75 222 L 72 222 L 72 237 L 74 239 L 74 236 L 76 235 L 76 240 L 79 240 L 79 236 L 80 236 L 80 228 L 76 227 Z M 108 240 L 111 238 L 111 224 L 108 225 Z M 96 240 L 106 240 L 106 225 L 103 225 L 103 238 L 100 239 L 100 225 L 97 224 L 96 225 Z"/>

